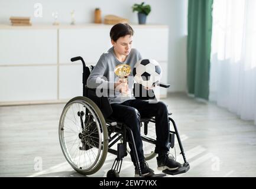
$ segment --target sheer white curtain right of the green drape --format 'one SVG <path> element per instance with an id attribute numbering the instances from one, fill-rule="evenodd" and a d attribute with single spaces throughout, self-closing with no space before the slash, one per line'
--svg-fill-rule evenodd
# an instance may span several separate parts
<path id="1" fill-rule="evenodd" d="M 256 125 L 256 1 L 214 0 L 209 100 Z"/>

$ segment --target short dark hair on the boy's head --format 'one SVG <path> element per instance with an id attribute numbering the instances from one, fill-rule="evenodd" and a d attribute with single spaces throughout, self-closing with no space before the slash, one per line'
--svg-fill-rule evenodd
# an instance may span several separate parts
<path id="1" fill-rule="evenodd" d="M 113 41 L 117 41 L 119 37 L 124 37 L 125 35 L 134 35 L 134 30 L 127 23 L 118 23 L 110 30 L 110 38 Z"/>

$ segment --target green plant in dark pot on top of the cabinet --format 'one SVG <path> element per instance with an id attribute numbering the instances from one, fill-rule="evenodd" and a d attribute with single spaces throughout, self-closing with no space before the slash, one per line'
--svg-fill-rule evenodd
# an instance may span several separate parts
<path id="1" fill-rule="evenodd" d="M 144 2 L 141 4 L 134 4 L 132 6 L 132 12 L 138 11 L 139 24 L 145 24 L 147 15 L 150 14 L 151 7 L 150 5 L 144 5 Z"/>

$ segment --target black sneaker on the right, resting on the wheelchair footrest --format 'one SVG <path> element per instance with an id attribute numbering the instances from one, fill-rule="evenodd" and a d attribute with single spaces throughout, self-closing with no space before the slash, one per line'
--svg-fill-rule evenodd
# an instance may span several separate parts
<path id="1" fill-rule="evenodd" d="M 182 167 L 182 164 L 175 161 L 173 158 L 168 157 L 168 154 L 161 157 L 157 157 L 157 170 L 177 170 L 177 168 Z"/>

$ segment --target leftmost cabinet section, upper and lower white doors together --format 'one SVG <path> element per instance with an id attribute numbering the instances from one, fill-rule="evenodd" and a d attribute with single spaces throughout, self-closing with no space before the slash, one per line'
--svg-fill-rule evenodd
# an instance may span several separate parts
<path id="1" fill-rule="evenodd" d="M 0 27 L 0 105 L 56 101 L 57 30 Z"/>

